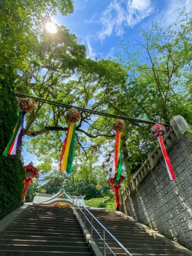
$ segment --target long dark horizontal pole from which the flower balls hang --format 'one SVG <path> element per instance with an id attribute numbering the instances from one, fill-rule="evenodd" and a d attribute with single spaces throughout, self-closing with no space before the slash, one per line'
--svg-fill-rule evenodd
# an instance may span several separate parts
<path id="1" fill-rule="evenodd" d="M 81 108 L 78 106 L 68 105 L 68 104 L 64 104 L 61 102 L 57 102 L 57 101 L 46 100 L 44 98 L 37 98 L 35 96 L 31 96 L 31 95 L 27 95 L 27 94 L 23 94 L 23 93 L 15 93 L 15 96 L 21 97 L 21 98 L 26 98 L 26 97 L 33 98 L 36 101 L 39 101 L 39 102 L 42 102 L 45 104 L 49 104 L 49 105 L 53 105 L 53 106 L 59 106 L 61 108 L 66 108 L 66 109 L 76 108 L 76 109 L 80 110 L 81 112 L 85 112 L 85 113 L 90 113 L 90 114 L 94 114 L 94 115 L 103 115 L 104 117 L 112 117 L 112 118 L 116 118 L 116 119 L 123 119 L 124 121 L 128 121 L 130 123 L 147 123 L 148 125 L 155 125 L 155 123 L 161 123 L 158 121 L 141 120 L 141 119 L 137 119 L 137 118 L 126 117 L 124 115 L 116 115 L 116 114 L 101 112 L 101 111 L 97 111 L 97 110 L 93 110 L 93 109 Z M 168 123 L 161 123 L 161 125 L 164 125 L 166 127 L 170 126 Z"/>

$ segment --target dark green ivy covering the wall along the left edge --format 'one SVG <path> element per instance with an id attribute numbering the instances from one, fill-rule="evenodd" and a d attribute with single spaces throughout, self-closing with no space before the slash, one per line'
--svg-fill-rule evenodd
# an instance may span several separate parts
<path id="1" fill-rule="evenodd" d="M 2 156 L 18 119 L 11 68 L 0 69 L 0 219 L 19 206 L 22 199 L 24 168 L 20 151 L 14 159 Z"/>

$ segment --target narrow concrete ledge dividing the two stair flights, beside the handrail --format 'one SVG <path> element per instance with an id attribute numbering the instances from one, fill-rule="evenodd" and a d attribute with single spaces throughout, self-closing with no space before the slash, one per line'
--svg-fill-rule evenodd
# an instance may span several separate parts
<path id="1" fill-rule="evenodd" d="M 103 256 L 103 254 L 101 253 L 101 250 L 99 249 L 95 241 L 94 240 L 91 241 L 91 234 L 89 233 L 89 230 L 86 228 L 86 226 L 84 226 L 84 222 L 81 220 L 81 218 L 78 218 L 78 213 L 75 212 L 74 208 L 73 208 L 73 212 L 77 218 L 78 224 L 82 229 L 82 232 L 84 233 L 86 242 L 89 244 L 91 248 L 91 252 L 94 254 L 94 256 Z"/>

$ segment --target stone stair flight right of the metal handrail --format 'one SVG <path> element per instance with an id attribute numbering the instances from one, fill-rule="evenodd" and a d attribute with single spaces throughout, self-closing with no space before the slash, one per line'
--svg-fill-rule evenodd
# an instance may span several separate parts
<path id="1" fill-rule="evenodd" d="M 90 212 L 105 226 L 108 231 L 120 242 L 133 256 L 181 256 L 185 254 L 180 254 L 180 251 L 173 249 L 171 246 L 165 245 L 164 242 L 155 239 L 150 236 L 147 232 L 137 228 L 131 222 L 125 220 L 123 217 L 119 216 L 115 212 L 105 212 L 105 210 L 90 210 Z M 102 234 L 102 229 L 94 222 L 97 226 L 99 232 Z M 89 228 L 90 230 L 90 228 Z M 97 243 L 99 249 L 103 252 L 103 242 L 101 238 L 94 232 L 94 241 Z M 121 249 L 114 240 L 111 240 L 109 236 L 106 235 L 106 241 L 115 255 L 126 255 L 123 249 Z M 107 250 L 106 255 L 112 255 L 109 250 Z"/>

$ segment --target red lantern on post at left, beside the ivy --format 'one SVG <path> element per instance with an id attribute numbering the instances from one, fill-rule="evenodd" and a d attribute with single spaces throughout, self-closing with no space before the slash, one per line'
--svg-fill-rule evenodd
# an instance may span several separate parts
<path id="1" fill-rule="evenodd" d="M 29 163 L 25 167 L 24 182 L 26 184 L 24 186 L 24 192 L 23 192 L 23 195 L 22 195 L 22 200 L 23 201 L 26 198 L 28 185 L 33 183 L 33 180 L 32 180 L 33 177 L 35 177 L 37 179 L 37 177 L 39 177 L 39 172 L 38 172 L 38 169 L 34 166 L 33 162 L 31 161 L 31 163 Z"/>

